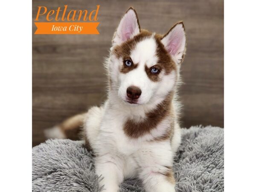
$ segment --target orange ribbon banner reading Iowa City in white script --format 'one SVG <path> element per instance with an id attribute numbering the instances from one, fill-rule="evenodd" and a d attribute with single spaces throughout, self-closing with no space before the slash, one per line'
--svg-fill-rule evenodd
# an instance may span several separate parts
<path id="1" fill-rule="evenodd" d="M 99 23 L 35 22 L 35 34 L 99 34 Z"/>

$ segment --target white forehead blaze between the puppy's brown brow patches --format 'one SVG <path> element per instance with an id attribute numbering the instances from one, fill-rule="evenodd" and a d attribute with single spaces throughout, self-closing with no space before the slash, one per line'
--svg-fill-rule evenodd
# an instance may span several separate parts
<path id="1" fill-rule="evenodd" d="M 138 42 L 135 48 L 131 51 L 131 59 L 134 64 L 147 65 L 151 67 L 157 64 L 157 44 L 153 37 L 145 38 L 144 40 Z"/>

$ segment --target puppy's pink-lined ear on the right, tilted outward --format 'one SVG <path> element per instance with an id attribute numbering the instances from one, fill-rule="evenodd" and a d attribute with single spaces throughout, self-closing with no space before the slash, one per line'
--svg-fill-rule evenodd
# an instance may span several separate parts
<path id="1" fill-rule="evenodd" d="M 166 50 L 177 64 L 183 61 L 186 52 L 186 34 L 183 22 L 176 23 L 161 39 Z"/>

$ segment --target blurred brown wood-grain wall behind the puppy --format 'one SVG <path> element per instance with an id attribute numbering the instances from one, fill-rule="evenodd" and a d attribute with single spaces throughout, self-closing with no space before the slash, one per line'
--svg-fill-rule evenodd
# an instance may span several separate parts
<path id="1" fill-rule="evenodd" d="M 224 126 L 224 2 L 223 0 L 33 0 L 37 6 L 56 9 L 93 9 L 100 5 L 100 35 L 32 35 L 32 145 L 45 140 L 44 128 L 106 98 L 102 63 L 120 18 L 133 6 L 140 26 L 167 32 L 183 20 L 187 53 L 181 74 L 182 126 Z M 32 32 L 35 25 L 32 24 Z"/>

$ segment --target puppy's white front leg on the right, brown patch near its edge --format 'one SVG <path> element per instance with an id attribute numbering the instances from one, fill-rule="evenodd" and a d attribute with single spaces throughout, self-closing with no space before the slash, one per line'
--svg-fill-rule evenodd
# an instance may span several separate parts
<path id="1" fill-rule="evenodd" d="M 146 192 L 175 192 L 170 141 L 146 143 L 136 154 L 139 177 Z"/>

